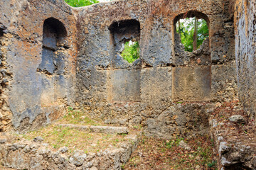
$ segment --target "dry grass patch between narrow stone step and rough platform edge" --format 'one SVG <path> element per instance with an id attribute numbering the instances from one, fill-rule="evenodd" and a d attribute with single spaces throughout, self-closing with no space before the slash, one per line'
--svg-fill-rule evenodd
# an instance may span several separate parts
<path id="1" fill-rule="evenodd" d="M 69 152 L 81 149 L 85 153 L 116 147 L 119 142 L 127 141 L 124 135 L 90 133 L 75 128 L 60 127 L 58 125 L 48 125 L 40 130 L 23 134 L 26 140 L 33 140 L 38 136 L 43 137 L 43 142 L 47 142 L 54 149 L 68 147 Z"/>

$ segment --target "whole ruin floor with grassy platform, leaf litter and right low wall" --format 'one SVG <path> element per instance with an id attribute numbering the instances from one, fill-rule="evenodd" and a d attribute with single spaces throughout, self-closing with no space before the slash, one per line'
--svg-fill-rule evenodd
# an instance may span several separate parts
<path id="1" fill-rule="evenodd" d="M 1 165 L 16 169 L 254 169 L 256 129 L 240 102 L 215 103 L 208 113 L 208 134 L 166 140 L 142 134 L 140 126 L 112 127 L 68 108 L 52 125 L 23 134 L 3 133 Z M 242 115 L 245 123 L 231 122 L 232 115 Z M 22 164 L 14 161 L 21 159 Z"/>

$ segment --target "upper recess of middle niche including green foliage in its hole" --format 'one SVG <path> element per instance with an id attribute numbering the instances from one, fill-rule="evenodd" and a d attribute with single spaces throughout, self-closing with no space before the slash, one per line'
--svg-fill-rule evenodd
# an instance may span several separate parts
<path id="1" fill-rule="evenodd" d="M 139 21 L 117 21 L 112 23 L 109 29 L 113 38 L 116 66 L 136 61 L 139 58 Z M 127 62 L 124 62 L 124 60 Z"/>

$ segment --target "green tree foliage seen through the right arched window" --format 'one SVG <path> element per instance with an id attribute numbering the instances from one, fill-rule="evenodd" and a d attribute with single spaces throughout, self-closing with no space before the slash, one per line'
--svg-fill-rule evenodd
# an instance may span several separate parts
<path id="1" fill-rule="evenodd" d="M 185 50 L 188 52 L 193 51 L 193 36 L 195 34 L 195 22 L 196 17 L 180 19 L 176 23 L 176 31 L 181 37 L 181 43 L 184 45 Z M 200 45 L 202 45 L 203 40 L 205 40 L 209 36 L 209 30 L 207 22 L 204 19 L 198 19 L 196 24 L 198 27 L 196 33 L 196 49 L 198 49 Z"/>

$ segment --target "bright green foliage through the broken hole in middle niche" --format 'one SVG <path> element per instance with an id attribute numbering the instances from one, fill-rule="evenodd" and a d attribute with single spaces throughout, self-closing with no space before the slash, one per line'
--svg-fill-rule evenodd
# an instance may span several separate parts
<path id="1" fill-rule="evenodd" d="M 139 42 L 132 40 L 125 42 L 121 56 L 129 63 L 137 60 L 139 58 Z"/>

